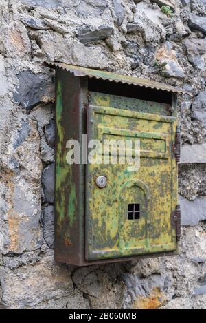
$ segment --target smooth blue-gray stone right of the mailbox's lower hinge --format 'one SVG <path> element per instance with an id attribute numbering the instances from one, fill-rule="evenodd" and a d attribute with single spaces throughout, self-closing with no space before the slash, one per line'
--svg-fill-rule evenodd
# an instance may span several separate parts
<path id="1" fill-rule="evenodd" d="M 198 197 L 193 201 L 179 196 L 181 206 L 181 225 L 198 225 L 199 221 L 206 220 L 206 196 Z"/>

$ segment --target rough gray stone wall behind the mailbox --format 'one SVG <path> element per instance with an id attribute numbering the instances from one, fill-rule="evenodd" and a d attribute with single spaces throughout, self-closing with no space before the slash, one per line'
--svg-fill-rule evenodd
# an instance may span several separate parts
<path id="1" fill-rule="evenodd" d="M 205 5 L 0 0 L 1 308 L 206 308 Z M 193 93 L 178 107 L 179 256 L 78 269 L 54 262 L 54 72 L 45 60 Z"/>

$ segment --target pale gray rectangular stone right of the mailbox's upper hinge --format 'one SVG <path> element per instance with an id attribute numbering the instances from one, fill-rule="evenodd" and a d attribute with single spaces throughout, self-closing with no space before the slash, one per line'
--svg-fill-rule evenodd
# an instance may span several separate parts
<path id="1" fill-rule="evenodd" d="M 180 163 L 206 163 L 206 143 L 182 145 Z"/>

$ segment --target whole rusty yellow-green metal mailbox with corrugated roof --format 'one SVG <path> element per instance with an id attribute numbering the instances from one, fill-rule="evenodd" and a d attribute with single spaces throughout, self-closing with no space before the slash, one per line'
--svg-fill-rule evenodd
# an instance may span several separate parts
<path id="1" fill-rule="evenodd" d="M 49 66 L 56 68 L 56 260 L 83 266 L 175 254 L 181 91 L 65 63 Z M 85 138 L 138 138 L 140 168 L 85 162 Z M 68 163 L 69 140 L 79 143 L 80 163 Z"/>

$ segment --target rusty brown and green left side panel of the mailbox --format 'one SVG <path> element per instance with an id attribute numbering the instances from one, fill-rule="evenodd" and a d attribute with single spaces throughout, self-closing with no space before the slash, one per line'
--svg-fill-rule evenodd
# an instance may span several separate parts
<path id="1" fill-rule="evenodd" d="M 77 265 L 84 259 L 84 169 L 69 165 L 67 154 L 69 140 L 81 145 L 81 92 L 78 77 L 56 70 L 55 260 Z"/>

